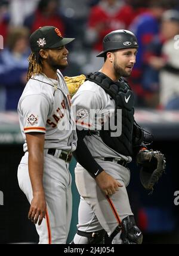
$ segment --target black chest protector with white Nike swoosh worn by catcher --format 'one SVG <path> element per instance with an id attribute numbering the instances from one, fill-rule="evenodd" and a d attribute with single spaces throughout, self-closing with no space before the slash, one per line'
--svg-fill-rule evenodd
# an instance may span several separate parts
<path id="1" fill-rule="evenodd" d="M 120 79 L 119 82 L 113 82 L 109 77 L 100 72 L 91 73 L 87 76 L 87 80 L 101 86 L 104 91 L 115 100 L 115 124 L 119 124 L 120 118 L 117 110 L 122 109 L 122 133 L 118 137 L 111 136 L 112 131 L 100 131 L 100 137 L 107 146 L 116 150 L 122 155 L 132 155 L 132 130 L 134 124 L 134 95 L 127 83 Z"/>

